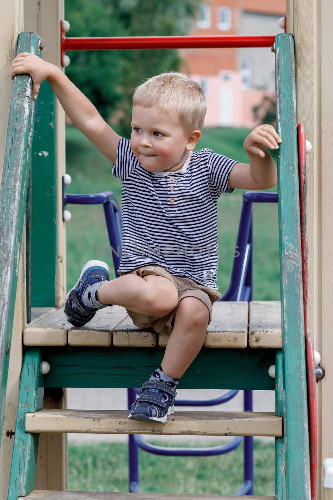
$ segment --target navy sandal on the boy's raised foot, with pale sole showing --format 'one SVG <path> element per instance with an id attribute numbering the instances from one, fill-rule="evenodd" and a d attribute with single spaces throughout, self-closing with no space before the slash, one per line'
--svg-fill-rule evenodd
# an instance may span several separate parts
<path id="1" fill-rule="evenodd" d="M 82 302 L 83 292 L 89 284 L 109 280 L 109 273 L 109 266 L 102 260 L 88 260 L 84 264 L 80 277 L 65 298 L 64 313 L 69 323 L 74 326 L 83 326 L 93 318 L 98 309 L 93 306 L 87 307 Z"/>

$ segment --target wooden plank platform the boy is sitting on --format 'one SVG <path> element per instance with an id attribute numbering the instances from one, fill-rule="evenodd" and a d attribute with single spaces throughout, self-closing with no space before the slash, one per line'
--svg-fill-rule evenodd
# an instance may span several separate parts
<path id="1" fill-rule="evenodd" d="M 250 347 L 281 348 L 280 302 L 215 302 L 204 345 L 209 348 L 242 349 L 248 345 L 248 333 Z M 80 328 L 68 323 L 63 308 L 53 312 L 50 309 L 23 332 L 24 345 L 165 347 L 167 341 L 168 335 L 158 334 L 152 328 L 139 329 L 135 326 L 126 309 L 120 305 L 98 310 L 92 320 Z"/>

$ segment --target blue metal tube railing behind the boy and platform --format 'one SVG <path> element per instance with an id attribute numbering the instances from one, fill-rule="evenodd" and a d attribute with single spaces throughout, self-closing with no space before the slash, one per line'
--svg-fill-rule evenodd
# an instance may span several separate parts
<path id="1" fill-rule="evenodd" d="M 122 226 L 121 213 L 117 200 L 111 191 L 102 191 L 97 194 L 67 194 L 64 180 L 63 210 L 67 203 L 72 204 L 103 204 L 105 221 L 116 277 L 122 253 Z M 252 271 L 253 271 L 253 206 L 252 203 L 277 203 L 278 193 L 244 191 L 243 205 L 238 228 L 236 248 L 239 255 L 234 256 L 230 284 L 219 300 L 252 300 Z M 127 389 L 128 407 L 135 401 L 139 389 Z M 229 390 L 225 394 L 205 400 L 178 399 L 177 406 L 213 406 L 229 401 L 238 393 L 238 390 Z M 252 411 L 252 390 L 244 390 L 244 411 Z M 213 456 L 228 453 L 236 449 L 244 440 L 244 483 L 235 495 L 253 495 L 253 437 L 236 436 L 231 442 L 210 447 L 168 447 L 157 446 L 145 441 L 141 434 L 129 434 L 129 491 L 140 492 L 139 488 L 139 458 L 138 448 L 149 453 L 167 456 Z"/>

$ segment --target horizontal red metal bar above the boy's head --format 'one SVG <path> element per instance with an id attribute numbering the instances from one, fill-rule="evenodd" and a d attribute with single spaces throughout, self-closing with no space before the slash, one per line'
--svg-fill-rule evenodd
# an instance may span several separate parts
<path id="1" fill-rule="evenodd" d="M 275 36 L 102 36 L 66 38 L 64 50 L 111 50 L 127 48 L 270 47 Z"/>

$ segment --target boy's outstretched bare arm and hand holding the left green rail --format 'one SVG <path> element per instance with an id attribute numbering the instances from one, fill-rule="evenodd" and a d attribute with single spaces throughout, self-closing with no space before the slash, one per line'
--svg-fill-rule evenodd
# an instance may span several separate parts
<path id="1" fill-rule="evenodd" d="M 10 66 L 10 78 L 29 73 L 33 80 L 33 97 L 40 83 L 48 80 L 68 118 L 109 159 L 116 162 L 120 137 L 101 117 L 90 100 L 67 78 L 60 68 L 28 52 L 18 54 Z"/>

